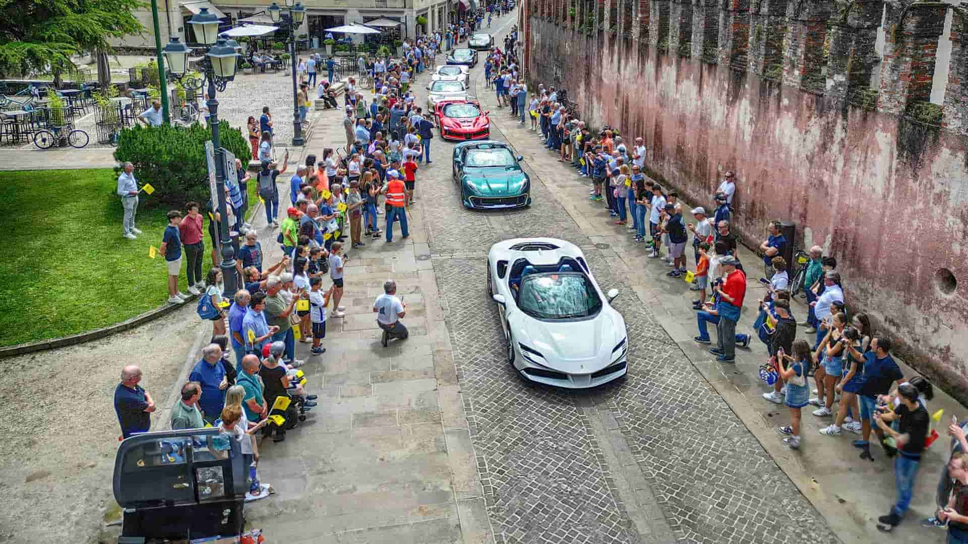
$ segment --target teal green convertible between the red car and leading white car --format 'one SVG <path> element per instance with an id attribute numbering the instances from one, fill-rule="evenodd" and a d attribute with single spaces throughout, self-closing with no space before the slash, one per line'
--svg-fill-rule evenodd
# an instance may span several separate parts
<path id="1" fill-rule="evenodd" d="M 468 208 L 518 208 L 531 205 L 531 180 L 521 169 L 524 157 L 499 141 L 465 141 L 454 147 L 454 181 Z"/>

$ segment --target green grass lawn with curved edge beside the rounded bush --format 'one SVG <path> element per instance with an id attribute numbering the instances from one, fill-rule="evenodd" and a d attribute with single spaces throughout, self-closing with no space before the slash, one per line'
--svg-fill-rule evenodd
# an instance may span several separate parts
<path id="1" fill-rule="evenodd" d="M 148 247 L 161 245 L 168 208 L 146 209 L 151 196 L 142 193 L 136 225 L 144 233 L 122 237 L 116 179 L 110 168 L 0 172 L 9 252 L 0 260 L 0 346 L 104 327 L 166 304 L 165 258 L 149 258 Z M 206 234 L 206 257 L 208 246 Z M 183 268 L 182 292 L 186 283 Z"/>

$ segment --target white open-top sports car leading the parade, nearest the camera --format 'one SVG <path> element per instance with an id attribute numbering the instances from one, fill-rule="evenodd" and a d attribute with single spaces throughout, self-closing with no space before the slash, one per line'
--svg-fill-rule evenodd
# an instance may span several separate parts
<path id="1" fill-rule="evenodd" d="M 522 377 L 594 387 L 625 376 L 625 319 L 602 292 L 582 250 L 555 238 L 515 238 L 491 247 L 488 294 L 498 303 L 507 359 Z"/>

